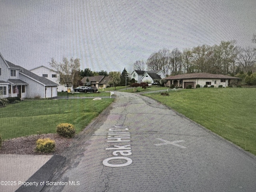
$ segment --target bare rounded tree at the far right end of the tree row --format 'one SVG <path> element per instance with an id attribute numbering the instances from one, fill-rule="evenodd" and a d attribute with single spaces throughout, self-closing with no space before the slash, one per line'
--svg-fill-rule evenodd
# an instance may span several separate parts
<path id="1" fill-rule="evenodd" d="M 238 63 L 245 72 L 252 69 L 256 63 L 256 50 L 254 48 L 242 48 L 238 54 Z"/>

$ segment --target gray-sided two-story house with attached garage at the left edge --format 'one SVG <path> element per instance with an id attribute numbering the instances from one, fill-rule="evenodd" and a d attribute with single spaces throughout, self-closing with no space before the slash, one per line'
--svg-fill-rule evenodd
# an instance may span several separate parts
<path id="1" fill-rule="evenodd" d="M 58 84 L 12 64 L 0 53 L 0 98 L 50 98 L 57 96 Z"/>

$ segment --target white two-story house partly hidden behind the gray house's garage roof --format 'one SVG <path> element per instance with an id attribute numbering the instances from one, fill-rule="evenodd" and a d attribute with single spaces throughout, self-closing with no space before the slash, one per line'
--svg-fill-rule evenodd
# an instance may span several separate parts
<path id="1" fill-rule="evenodd" d="M 48 80 L 58 84 L 58 92 L 61 91 L 67 91 L 68 88 L 65 87 L 65 84 L 61 84 L 60 83 L 60 74 L 46 66 L 39 66 L 33 69 L 30 69 L 31 72 L 33 72 L 34 74 L 37 74 L 40 77 L 45 77 Z M 72 88 L 71 88 L 72 89 Z"/>

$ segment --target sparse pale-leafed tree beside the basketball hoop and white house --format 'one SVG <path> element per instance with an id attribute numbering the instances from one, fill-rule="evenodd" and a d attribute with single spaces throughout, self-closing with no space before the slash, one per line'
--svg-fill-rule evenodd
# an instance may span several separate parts
<path id="1" fill-rule="evenodd" d="M 80 82 L 80 59 L 70 58 L 68 60 L 66 57 L 63 57 L 62 62 L 56 62 L 54 58 L 49 62 L 50 67 L 57 71 L 60 74 L 60 83 L 64 84 L 65 82 L 72 82 L 72 85 L 76 87 Z"/>

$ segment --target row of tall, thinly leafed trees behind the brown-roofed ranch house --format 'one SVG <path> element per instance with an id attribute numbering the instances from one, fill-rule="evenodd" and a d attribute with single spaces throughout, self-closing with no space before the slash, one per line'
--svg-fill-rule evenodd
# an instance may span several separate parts
<path id="1" fill-rule="evenodd" d="M 134 70 L 163 70 L 166 76 L 201 72 L 234 76 L 241 71 L 255 70 L 255 63 L 256 49 L 236 46 L 236 41 L 232 40 L 183 51 L 163 48 L 152 53 L 146 62 L 134 62 Z"/>

